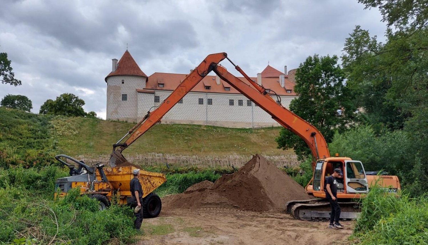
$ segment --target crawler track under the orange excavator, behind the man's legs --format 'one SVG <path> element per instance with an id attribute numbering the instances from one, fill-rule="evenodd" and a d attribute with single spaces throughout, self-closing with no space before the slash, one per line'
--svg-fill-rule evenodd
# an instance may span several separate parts
<path id="1" fill-rule="evenodd" d="M 307 200 L 305 200 L 307 201 Z M 341 220 L 355 220 L 360 214 L 360 204 L 356 202 L 340 202 Z M 330 219 L 330 203 L 318 199 L 315 203 L 297 203 L 292 205 L 291 215 L 300 220 L 319 221 Z"/>

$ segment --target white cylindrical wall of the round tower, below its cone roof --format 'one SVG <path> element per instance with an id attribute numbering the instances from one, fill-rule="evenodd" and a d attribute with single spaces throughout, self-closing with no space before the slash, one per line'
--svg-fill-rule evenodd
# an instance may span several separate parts
<path id="1" fill-rule="evenodd" d="M 135 121 L 137 118 L 137 88 L 146 87 L 146 77 L 113 76 L 107 78 L 107 120 Z M 124 80 L 124 84 L 122 84 Z M 122 101 L 122 94 L 127 100 Z"/>

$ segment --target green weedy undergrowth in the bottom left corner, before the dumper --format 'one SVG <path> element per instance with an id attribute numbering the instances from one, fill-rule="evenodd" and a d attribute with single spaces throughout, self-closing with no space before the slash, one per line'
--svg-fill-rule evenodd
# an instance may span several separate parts
<path id="1" fill-rule="evenodd" d="M 42 200 L 22 187 L 0 188 L 0 242 L 10 244 L 128 244 L 134 242 L 133 213 L 112 205 L 98 211 L 98 203 L 74 189 L 65 198 Z M 25 244 L 25 243 L 24 243 Z"/>

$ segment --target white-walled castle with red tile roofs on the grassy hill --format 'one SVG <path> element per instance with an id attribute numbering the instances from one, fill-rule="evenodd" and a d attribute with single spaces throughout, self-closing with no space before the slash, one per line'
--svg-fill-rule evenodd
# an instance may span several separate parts
<path id="1" fill-rule="evenodd" d="M 251 79 L 275 91 L 288 108 L 294 93 L 294 70 L 278 71 L 268 65 Z M 107 83 L 107 120 L 136 122 L 156 106 L 185 79 L 187 74 L 155 72 L 149 77 L 141 71 L 128 50 L 113 59 Z M 244 77 L 239 77 L 244 80 Z M 276 97 L 273 97 L 277 100 Z M 277 100 L 278 101 L 278 100 Z M 279 102 L 279 101 L 278 101 Z M 162 123 L 204 124 L 222 127 L 279 126 L 271 116 L 218 76 L 206 76 L 162 118 Z"/>

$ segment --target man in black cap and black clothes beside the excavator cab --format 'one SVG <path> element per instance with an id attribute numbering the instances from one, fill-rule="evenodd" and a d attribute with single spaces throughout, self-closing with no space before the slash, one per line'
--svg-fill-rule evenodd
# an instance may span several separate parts
<path id="1" fill-rule="evenodd" d="M 342 224 L 339 223 L 340 218 L 340 207 L 339 203 L 337 202 L 337 186 L 336 186 L 336 178 L 339 176 L 343 176 L 342 170 L 339 168 L 335 168 L 333 170 L 333 174 L 327 177 L 327 180 L 325 181 L 325 197 L 328 201 L 330 201 L 330 224 L 329 227 L 336 228 L 336 229 L 342 229 Z M 333 223 L 334 221 L 334 223 Z"/>

